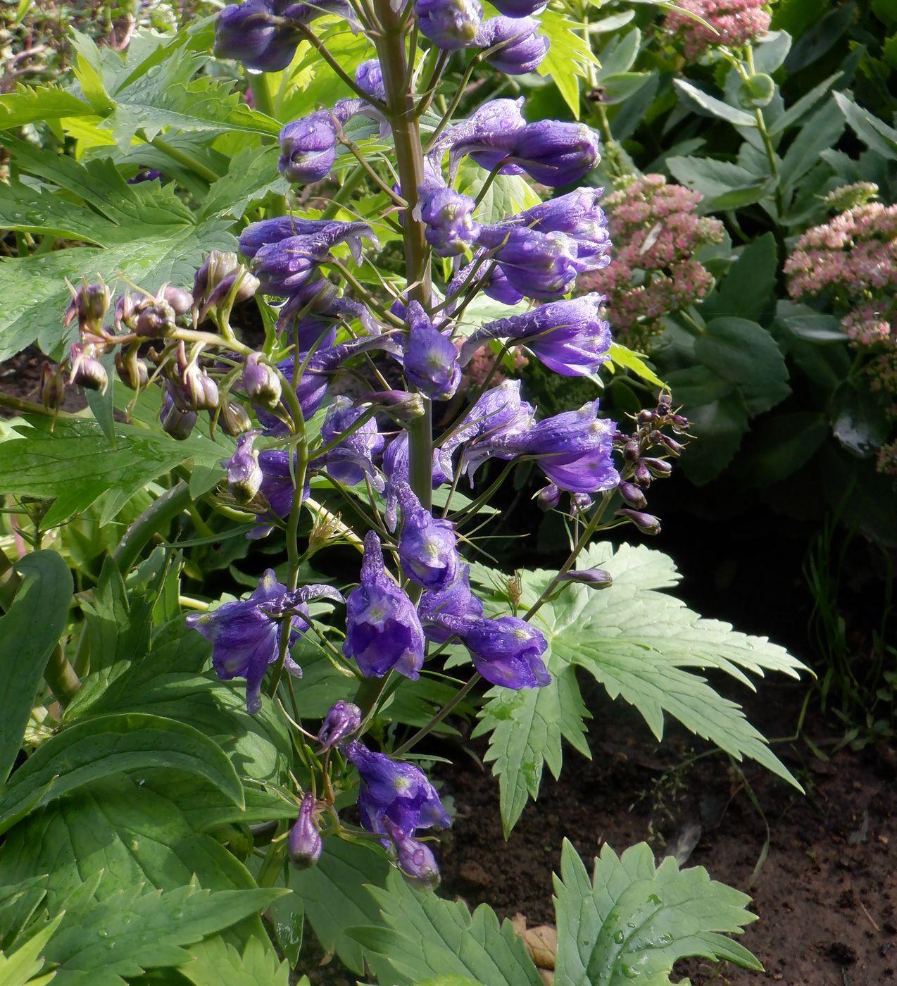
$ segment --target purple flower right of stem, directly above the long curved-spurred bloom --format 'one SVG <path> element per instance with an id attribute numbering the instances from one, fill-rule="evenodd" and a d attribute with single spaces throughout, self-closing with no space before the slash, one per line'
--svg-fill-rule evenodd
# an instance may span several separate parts
<path id="1" fill-rule="evenodd" d="M 511 286 L 525 298 L 557 298 L 576 281 L 577 246 L 563 233 L 484 226 L 479 243 L 498 247 L 496 262 Z"/>

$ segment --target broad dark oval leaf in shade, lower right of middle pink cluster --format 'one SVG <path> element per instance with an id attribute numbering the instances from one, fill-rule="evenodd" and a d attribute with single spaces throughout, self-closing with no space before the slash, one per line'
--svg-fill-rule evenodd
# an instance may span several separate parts
<path id="1" fill-rule="evenodd" d="M 749 414 L 768 411 L 792 392 L 782 350 L 755 321 L 713 318 L 695 341 L 695 355 L 739 389 Z"/>

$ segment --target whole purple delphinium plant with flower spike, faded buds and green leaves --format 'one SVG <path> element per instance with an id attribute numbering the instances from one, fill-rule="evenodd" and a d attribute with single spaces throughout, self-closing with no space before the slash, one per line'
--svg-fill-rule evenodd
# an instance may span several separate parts
<path id="1" fill-rule="evenodd" d="M 246 0 L 218 16 L 216 50 L 254 73 L 256 107 L 270 97 L 259 73 L 301 44 L 352 95 L 280 131 L 290 188 L 271 175 L 239 254 L 211 251 L 192 283 L 122 277 L 113 291 L 85 270 L 69 285 L 58 315 L 73 336 L 44 368 L 47 413 L 0 450 L 34 470 L 29 456 L 77 458 L 102 438 L 101 516 L 140 507 L 79 589 L 84 619 L 61 643 L 71 578 L 40 548 L 66 491 L 29 515 L 35 552 L 4 566 L 2 646 L 21 646 L 35 604 L 47 614 L 0 747 L 5 773 L 18 764 L 0 796 L 6 961 L 42 954 L 61 982 L 168 968 L 178 982 L 215 970 L 285 983 L 303 967 L 305 916 L 325 951 L 384 984 L 539 983 L 510 923 L 432 893 L 451 768 L 440 787 L 426 754 L 452 713 L 476 716 L 508 835 L 543 765 L 559 774 L 562 740 L 588 755 L 577 669 L 658 739 L 669 714 L 793 781 L 693 669 L 745 682 L 798 663 L 661 592 L 677 579 L 664 555 L 598 537 L 659 530 L 648 497 L 688 441 L 668 390 L 620 420 L 598 400 L 544 417 L 518 381 L 494 382 L 511 346 L 562 377 L 597 375 L 611 356 L 644 370 L 600 315 L 610 238 L 600 189 L 578 186 L 596 134 L 527 121 L 521 100 L 465 103 L 484 63 L 514 75 L 545 57 L 539 7 L 506 0 L 484 18 L 477 0 Z M 351 70 L 331 50 L 350 31 L 371 54 Z M 305 214 L 308 186 L 334 175 L 336 199 Z M 133 187 L 157 180 L 144 177 Z M 543 201 L 495 214 L 524 189 L 532 199 L 530 182 Z M 376 216 L 353 218 L 371 194 Z M 379 266 L 381 240 L 401 274 Z M 596 290 L 568 297 L 583 274 Z M 499 317 L 477 315 L 484 298 Z M 463 368 L 484 351 L 493 368 L 457 408 Z M 105 399 L 116 382 L 127 424 Z M 69 385 L 96 422 L 53 417 Z M 174 472 L 143 506 L 146 458 Z M 479 528 L 520 463 L 544 477 L 538 507 L 569 534 L 552 571 L 479 560 Z M 270 567 L 244 599 L 217 599 L 201 549 L 238 538 Z M 589 878 L 565 844 L 556 891 L 558 983 L 665 982 L 688 954 L 757 967 L 725 937 L 752 919 L 747 898 L 700 868 L 655 867 L 645 845 L 605 847 Z"/>

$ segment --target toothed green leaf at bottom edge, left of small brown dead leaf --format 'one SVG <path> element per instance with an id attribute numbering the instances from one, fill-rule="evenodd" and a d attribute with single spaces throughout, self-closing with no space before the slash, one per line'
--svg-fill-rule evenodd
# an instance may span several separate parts
<path id="1" fill-rule="evenodd" d="M 394 970 L 380 975 L 382 986 L 445 975 L 502 986 L 541 986 L 511 922 L 499 925 L 487 904 L 471 914 L 463 901 L 413 889 L 394 871 L 385 889 L 368 890 L 380 905 L 385 927 L 359 928 L 353 934 Z"/>

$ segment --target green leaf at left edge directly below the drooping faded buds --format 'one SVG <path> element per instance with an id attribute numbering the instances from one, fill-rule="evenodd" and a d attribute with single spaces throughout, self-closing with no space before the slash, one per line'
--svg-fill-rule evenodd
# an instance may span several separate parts
<path id="1" fill-rule="evenodd" d="M 227 444 L 198 433 L 177 442 L 161 430 L 116 424 L 117 448 L 112 449 L 96 421 L 34 418 L 29 424 L 17 426 L 21 437 L 0 443 L 0 493 L 55 497 L 44 527 L 86 510 L 101 494 L 113 491 L 101 515 L 106 523 L 138 490 L 185 459 L 212 465 L 229 451 Z"/>

